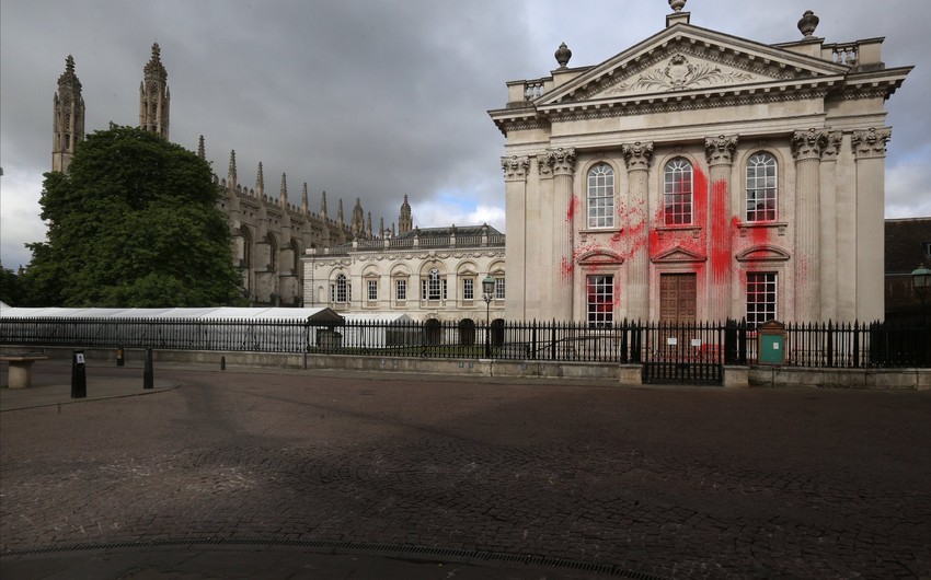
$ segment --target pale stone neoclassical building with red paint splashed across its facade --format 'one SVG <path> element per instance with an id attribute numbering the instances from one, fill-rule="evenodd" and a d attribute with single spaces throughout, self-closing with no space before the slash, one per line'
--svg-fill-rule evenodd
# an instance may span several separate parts
<path id="1" fill-rule="evenodd" d="M 690 24 L 507 83 L 506 317 L 883 317 L 883 38 L 766 45 Z"/>

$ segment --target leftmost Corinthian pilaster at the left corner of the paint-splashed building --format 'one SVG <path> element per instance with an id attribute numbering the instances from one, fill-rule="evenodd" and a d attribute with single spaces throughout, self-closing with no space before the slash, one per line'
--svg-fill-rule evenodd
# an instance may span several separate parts
<path id="1" fill-rule="evenodd" d="M 505 302 L 505 318 L 524 321 L 527 318 L 527 170 L 530 159 L 512 155 L 501 159 L 504 170 L 505 204 L 507 212 L 505 223 L 507 241 L 505 258 L 507 259 L 507 293 Z M 512 232 L 514 232 L 512 234 Z M 480 278 L 483 272 L 479 272 Z M 486 272 L 485 272 L 486 274 Z"/>

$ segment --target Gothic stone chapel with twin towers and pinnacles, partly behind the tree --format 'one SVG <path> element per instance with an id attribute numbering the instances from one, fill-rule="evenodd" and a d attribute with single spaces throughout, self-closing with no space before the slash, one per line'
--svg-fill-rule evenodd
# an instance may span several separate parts
<path id="1" fill-rule="evenodd" d="M 54 98 L 53 171 L 68 171 L 74 147 L 84 138 L 81 89 L 81 81 L 74 73 L 74 59 L 69 55 Z M 159 45 L 154 44 L 139 85 L 139 127 L 169 139 L 170 111 L 168 72 Z M 203 136 L 197 153 L 206 159 Z M 235 151 L 230 152 L 227 176 L 215 175 L 214 181 L 221 193 L 220 209 L 229 216 L 233 260 L 242 271 L 243 293 L 252 305 L 301 305 L 303 264 L 300 256 L 306 250 L 340 246 L 348 240 L 375 239 L 371 214 L 365 220 L 359 199 L 356 199 L 349 222 L 343 219 L 342 199 L 335 219 L 330 217 L 325 192 L 321 195 L 320 211 L 313 212 L 309 207 L 307 183 L 301 189 L 299 205 L 288 198 L 285 174 L 281 174 L 277 195 L 266 193 L 261 162 L 255 186 L 244 187 L 238 177 Z"/>

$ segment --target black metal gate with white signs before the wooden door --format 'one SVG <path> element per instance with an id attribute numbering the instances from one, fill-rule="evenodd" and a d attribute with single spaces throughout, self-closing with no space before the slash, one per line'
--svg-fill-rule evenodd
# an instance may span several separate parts
<path id="1" fill-rule="evenodd" d="M 708 323 L 645 326 L 643 382 L 724 384 L 724 330 Z"/>

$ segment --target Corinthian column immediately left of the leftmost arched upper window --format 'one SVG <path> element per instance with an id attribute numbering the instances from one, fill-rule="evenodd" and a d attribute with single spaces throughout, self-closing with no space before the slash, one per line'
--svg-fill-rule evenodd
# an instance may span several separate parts
<path id="1" fill-rule="evenodd" d="M 573 199 L 572 182 L 575 173 L 575 149 L 559 148 L 547 152 L 547 162 L 553 170 L 553 257 L 558 276 L 552 278 L 551 312 L 558 321 L 573 320 L 573 288 L 575 256 L 573 235 L 578 199 Z"/>

